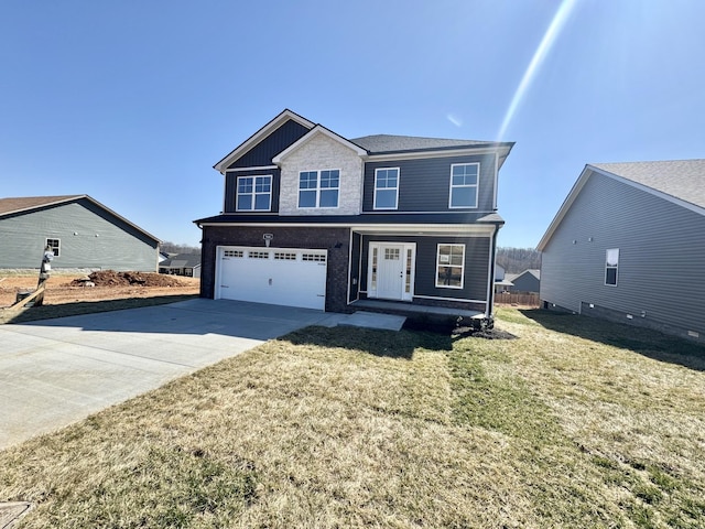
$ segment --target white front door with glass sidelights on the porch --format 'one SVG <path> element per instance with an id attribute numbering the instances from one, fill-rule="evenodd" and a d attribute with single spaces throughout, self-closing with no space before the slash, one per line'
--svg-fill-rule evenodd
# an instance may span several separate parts
<path id="1" fill-rule="evenodd" d="M 369 298 L 413 299 L 416 245 L 410 242 L 370 242 L 368 268 Z"/>

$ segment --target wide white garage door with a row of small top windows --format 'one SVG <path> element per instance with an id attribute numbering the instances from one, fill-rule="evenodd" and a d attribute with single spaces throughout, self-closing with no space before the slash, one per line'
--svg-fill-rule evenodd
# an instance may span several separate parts
<path id="1" fill-rule="evenodd" d="M 219 246 L 216 299 L 325 310 L 326 250 Z"/>

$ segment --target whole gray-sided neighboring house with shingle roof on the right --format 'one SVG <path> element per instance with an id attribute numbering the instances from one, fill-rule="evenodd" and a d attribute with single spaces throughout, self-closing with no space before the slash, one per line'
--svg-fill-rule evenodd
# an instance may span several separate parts
<path id="1" fill-rule="evenodd" d="M 539 242 L 541 300 L 705 339 L 705 160 L 586 165 Z"/>

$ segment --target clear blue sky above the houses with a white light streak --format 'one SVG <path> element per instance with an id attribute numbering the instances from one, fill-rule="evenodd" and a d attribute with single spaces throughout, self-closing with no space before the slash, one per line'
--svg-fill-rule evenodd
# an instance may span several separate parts
<path id="1" fill-rule="evenodd" d="M 703 21 L 701 0 L 6 0 L 0 196 L 88 194 L 197 245 L 213 165 L 290 108 L 347 138 L 517 142 L 499 245 L 534 247 L 586 163 L 705 158 Z"/>

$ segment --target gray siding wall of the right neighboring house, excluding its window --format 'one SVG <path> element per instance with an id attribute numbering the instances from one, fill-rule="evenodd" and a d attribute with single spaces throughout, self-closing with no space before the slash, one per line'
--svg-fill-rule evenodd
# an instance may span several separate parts
<path id="1" fill-rule="evenodd" d="M 593 173 L 542 253 L 541 300 L 583 304 L 705 336 L 705 217 Z M 617 285 L 605 252 L 619 249 Z M 634 323 L 634 322 L 632 322 Z M 639 323 L 639 322 L 636 322 Z"/>

